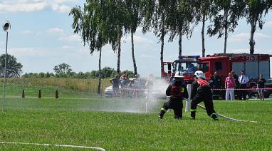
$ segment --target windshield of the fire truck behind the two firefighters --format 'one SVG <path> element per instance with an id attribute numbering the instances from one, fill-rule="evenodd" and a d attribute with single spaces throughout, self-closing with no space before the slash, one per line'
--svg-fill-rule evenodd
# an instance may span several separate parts
<path id="1" fill-rule="evenodd" d="M 180 71 L 183 75 L 192 75 L 197 71 L 197 63 L 174 63 L 174 71 Z"/>

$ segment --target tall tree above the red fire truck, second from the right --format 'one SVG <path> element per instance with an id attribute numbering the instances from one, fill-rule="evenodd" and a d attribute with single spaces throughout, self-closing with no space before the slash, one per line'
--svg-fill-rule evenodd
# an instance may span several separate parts
<path id="1" fill-rule="evenodd" d="M 238 21 L 244 15 L 245 3 L 241 0 L 214 0 L 217 14 L 208 26 L 209 36 L 218 34 L 218 38 L 224 35 L 224 53 L 226 53 L 226 41 L 229 32 L 234 32 Z"/>

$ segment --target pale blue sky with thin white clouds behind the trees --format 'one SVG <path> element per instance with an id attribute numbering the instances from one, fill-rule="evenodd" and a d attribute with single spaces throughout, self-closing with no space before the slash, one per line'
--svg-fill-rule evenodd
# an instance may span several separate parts
<path id="1" fill-rule="evenodd" d="M 83 46 L 80 36 L 73 34 L 73 18 L 68 13 L 73 6 L 83 6 L 83 0 L 0 0 L 0 23 L 11 23 L 8 53 L 23 64 L 23 73 L 52 72 L 60 63 L 68 63 L 72 70 L 98 70 L 98 53 L 90 55 L 88 46 Z M 264 18 L 263 30 L 255 34 L 256 53 L 272 54 L 272 12 Z M 209 23 L 207 23 L 209 24 Z M 249 53 L 250 26 L 243 19 L 234 33 L 229 34 L 227 53 Z M 167 41 L 167 39 L 166 39 Z M 184 55 L 201 55 L 201 26 L 194 29 L 192 38 L 184 37 Z M 6 48 L 6 33 L 0 31 L 0 52 Z M 165 43 L 164 61 L 174 61 L 178 54 L 177 40 Z M 222 53 L 224 38 L 206 36 L 206 54 Z M 160 43 L 153 33 L 135 34 L 135 57 L 138 72 L 147 76 L 159 76 Z M 272 61 L 271 61 L 272 62 Z M 117 67 L 117 54 L 110 46 L 102 53 L 102 67 Z M 130 35 L 122 38 L 122 71 L 133 71 Z"/>

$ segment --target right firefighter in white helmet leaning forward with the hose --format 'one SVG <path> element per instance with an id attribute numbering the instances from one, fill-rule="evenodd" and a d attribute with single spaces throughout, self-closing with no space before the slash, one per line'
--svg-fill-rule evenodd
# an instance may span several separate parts
<path id="1" fill-rule="evenodd" d="M 206 113 L 214 120 L 218 120 L 212 102 L 211 88 L 209 88 L 209 83 L 205 80 L 205 74 L 202 71 L 196 71 L 194 75 L 196 80 L 192 83 L 191 119 L 196 118 L 197 104 L 204 101 Z"/>

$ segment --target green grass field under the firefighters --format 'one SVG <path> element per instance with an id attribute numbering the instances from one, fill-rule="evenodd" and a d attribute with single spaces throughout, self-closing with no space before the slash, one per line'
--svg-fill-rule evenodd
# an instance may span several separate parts
<path id="1" fill-rule="evenodd" d="M 145 99 L 104 98 L 64 89 L 55 99 L 51 95 L 55 88 L 51 87 L 46 87 L 48 95 L 40 99 L 36 88 L 31 87 L 33 93 L 23 99 L 11 89 L 6 96 L 6 111 L 0 113 L 0 142 L 105 150 L 272 150 L 272 100 L 214 101 L 217 113 L 257 123 L 213 121 L 200 108 L 196 120 L 190 120 L 189 113 L 184 113 L 182 120 L 174 120 L 173 112 L 158 120 L 164 100 L 151 101 L 145 113 Z M 0 144 L 0 150 L 75 148 Z"/>

